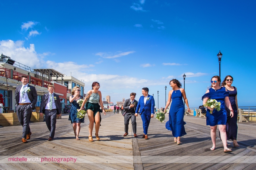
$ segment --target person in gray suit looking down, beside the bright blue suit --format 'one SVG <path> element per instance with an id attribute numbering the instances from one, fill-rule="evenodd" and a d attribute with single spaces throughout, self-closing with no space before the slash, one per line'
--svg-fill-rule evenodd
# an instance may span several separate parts
<path id="1" fill-rule="evenodd" d="M 134 137 L 135 138 L 138 137 L 136 135 L 136 128 L 137 128 L 136 116 L 134 115 L 135 110 L 136 110 L 136 106 L 138 104 L 138 101 L 135 100 L 135 96 L 136 96 L 136 93 L 131 93 L 130 94 L 130 99 L 126 99 L 125 102 L 124 102 L 124 112 L 123 112 L 124 131 L 125 131 L 125 134 L 123 135 L 124 137 L 126 137 L 128 135 L 128 128 L 129 128 L 130 119 L 132 121 L 132 130 L 133 130 Z"/>

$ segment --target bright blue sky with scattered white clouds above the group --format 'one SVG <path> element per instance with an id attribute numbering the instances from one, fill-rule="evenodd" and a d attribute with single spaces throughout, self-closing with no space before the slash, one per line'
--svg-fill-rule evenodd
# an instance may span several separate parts
<path id="1" fill-rule="evenodd" d="M 239 106 L 255 106 L 256 1 L 1 1 L 0 52 L 31 68 L 99 81 L 112 102 L 165 89 L 177 78 L 190 107 L 210 78 L 230 74 Z"/>

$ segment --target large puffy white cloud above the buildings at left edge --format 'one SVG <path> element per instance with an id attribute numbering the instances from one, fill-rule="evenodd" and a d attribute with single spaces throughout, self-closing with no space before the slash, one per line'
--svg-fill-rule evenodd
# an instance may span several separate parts
<path id="1" fill-rule="evenodd" d="M 4 55 L 11 57 L 12 60 L 21 62 L 29 67 L 40 68 L 43 63 L 35 51 L 35 45 L 30 44 L 29 48 L 25 48 L 24 41 L 2 40 L 0 41 L 0 51 Z"/>

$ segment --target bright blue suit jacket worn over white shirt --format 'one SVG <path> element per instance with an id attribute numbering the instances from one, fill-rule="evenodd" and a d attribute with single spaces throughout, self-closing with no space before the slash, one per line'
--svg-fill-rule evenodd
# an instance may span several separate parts
<path id="1" fill-rule="evenodd" d="M 149 99 L 146 100 L 146 104 L 144 104 L 144 96 L 141 96 L 139 98 L 139 102 L 136 108 L 135 113 L 139 113 L 140 115 L 142 113 L 145 113 L 146 115 L 155 114 L 154 108 L 155 108 L 155 100 L 153 96 L 150 96 L 148 94 Z M 139 111 L 139 112 L 138 112 Z"/>

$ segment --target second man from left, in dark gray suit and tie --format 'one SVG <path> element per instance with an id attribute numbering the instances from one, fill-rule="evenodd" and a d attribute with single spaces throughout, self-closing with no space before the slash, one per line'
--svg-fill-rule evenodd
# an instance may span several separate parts
<path id="1" fill-rule="evenodd" d="M 61 114 L 61 100 L 59 95 L 53 93 L 53 85 L 48 86 L 49 93 L 44 94 L 40 105 L 40 115 L 45 114 L 45 122 L 50 131 L 48 141 L 52 141 L 56 128 L 56 117 Z"/>

